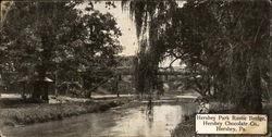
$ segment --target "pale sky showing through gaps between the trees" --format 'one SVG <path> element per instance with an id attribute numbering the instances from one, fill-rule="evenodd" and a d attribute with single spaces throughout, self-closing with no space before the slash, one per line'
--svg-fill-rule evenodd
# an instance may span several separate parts
<path id="1" fill-rule="evenodd" d="M 118 23 L 118 27 L 122 32 L 122 36 L 119 38 L 123 51 L 120 53 L 120 55 L 135 55 L 138 50 L 138 42 L 137 42 L 137 35 L 136 35 L 136 27 L 133 20 L 129 17 L 129 11 L 122 10 L 121 1 L 114 1 L 114 4 L 116 8 L 106 8 L 104 1 L 98 2 L 94 4 L 94 9 L 100 11 L 101 13 L 111 13 Z M 178 7 L 183 7 L 184 2 L 178 2 Z M 85 9 L 87 5 L 87 2 L 79 5 L 79 9 Z M 168 64 L 173 59 L 166 59 L 163 61 L 160 66 L 168 66 Z M 178 66 L 180 61 L 176 61 L 173 63 L 173 66 Z"/>

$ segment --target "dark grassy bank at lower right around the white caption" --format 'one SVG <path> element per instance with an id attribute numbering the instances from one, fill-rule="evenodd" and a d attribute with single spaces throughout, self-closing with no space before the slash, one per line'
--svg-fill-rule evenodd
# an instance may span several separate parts
<path id="1" fill-rule="evenodd" d="M 233 105 L 211 102 L 210 113 L 231 113 Z M 265 136 L 252 136 L 252 135 L 237 135 L 239 137 L 271 137 L 272 132 L 272 104 L 263 105 L 263 112 L 269 115 L 269 134 Z M 186 116 L 183 123 L 180 123 L 177 127 L 172 132 L 172 137 L 232 137 L 234 135 L 195 135 L 195 114 Z"/>

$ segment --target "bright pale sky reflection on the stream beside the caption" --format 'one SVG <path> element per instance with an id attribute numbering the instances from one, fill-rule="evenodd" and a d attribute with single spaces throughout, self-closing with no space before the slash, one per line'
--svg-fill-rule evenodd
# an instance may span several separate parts
<path id="1" fill-rule="evenodd" d="M 195 108 L 191 104 L 140 107 L 129 110 L 129 114 L 118 121 L 116 126 L 108 128 L 104 135 L 170 136 L 171 130 L 184 120 L 184 115 L 191 114 L 194 111 Z"/>

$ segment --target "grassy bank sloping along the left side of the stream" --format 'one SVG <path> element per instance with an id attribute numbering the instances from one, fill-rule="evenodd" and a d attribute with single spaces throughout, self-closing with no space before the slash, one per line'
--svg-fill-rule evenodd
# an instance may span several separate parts
<path id="1" fill-rule="evenodd" d="M 104 102 L 40 103 L 23 108 L 7 108 L 0 112 L 0 127 L 23 126 L 87 113 L 98 113 L 115 108 L 131 100 L 108 100 Z"/>

